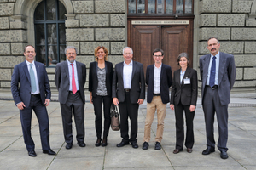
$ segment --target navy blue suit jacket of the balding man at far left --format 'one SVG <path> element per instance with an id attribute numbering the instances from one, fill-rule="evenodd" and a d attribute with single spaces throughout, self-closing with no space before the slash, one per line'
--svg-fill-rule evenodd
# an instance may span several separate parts
<path id="1" fill-rule="evenodd" d="M 51 95 L 49 80 L 44 64 L 35 61 L 35 66 L 38 75 L 40 96 L 42 104 L 44 105 L 45 99 L 50 99 Z M 31 99 L 31 82 L 26 61 L 19 65 L 15 65 L 11 80 L 11 91 L 15 100 L 15 105 L 23 102 L 24 105 L 29 106 Z"/>

